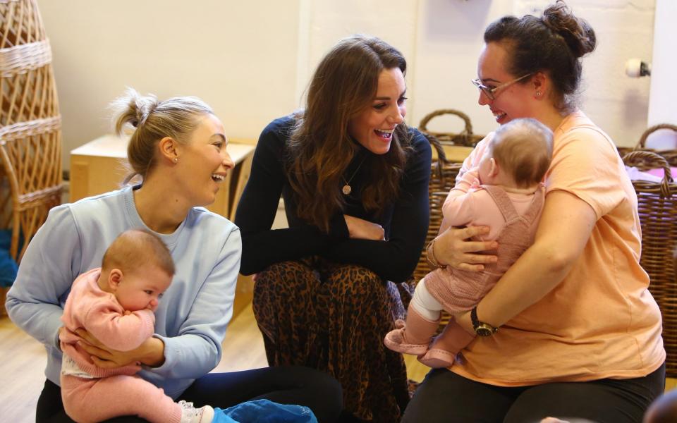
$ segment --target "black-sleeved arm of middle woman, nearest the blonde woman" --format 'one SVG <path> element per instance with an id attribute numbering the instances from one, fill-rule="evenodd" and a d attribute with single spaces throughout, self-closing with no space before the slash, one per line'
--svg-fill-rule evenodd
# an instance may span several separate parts
<path id="1" fill-rule="evenodd" d="M 245 275 L 277 262 L 318 254 L 334 239 L 311 225 L 271 229 L 287 180 L 282 157 L 290 128 L 291 118 L 281 118 L 263 130 L 254 153 L 250 178 L 238 203 L 235 223 L 242 232 L 240 272 Z M 342 226 L 344 238 L 348 236 L 343 216 L 337 215 L 332 226 Z"/>

